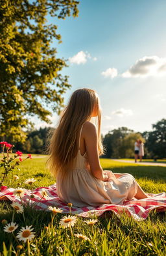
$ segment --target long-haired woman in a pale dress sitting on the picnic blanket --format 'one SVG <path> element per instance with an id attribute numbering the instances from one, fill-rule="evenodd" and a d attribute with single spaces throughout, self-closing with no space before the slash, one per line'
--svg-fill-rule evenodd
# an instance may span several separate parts
<path id="1" fill-rule="evenodd" d="M 65 203 L 98 206 L 148 197 L 132 175 L 103 171 L 99 161 L 103 154 L 101 106 L 97 92 L 91 89 L 73 92 L 54 130 L 49 151 L 49 168 L 56 178 L 58 196 Z"/>

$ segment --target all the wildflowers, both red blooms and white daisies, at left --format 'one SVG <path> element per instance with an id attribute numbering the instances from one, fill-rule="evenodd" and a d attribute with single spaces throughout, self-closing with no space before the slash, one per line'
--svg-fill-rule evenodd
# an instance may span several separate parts
<path id="1" fill-rule="evenodd" d="M 5 177 L 8 175 L 8 173 L 10 171 L 13 171 L 15 167 L 18 166 L 19 162 L 23 162 L 22 160 L 22 152 L 21 151 L 16 151 L 16 153 L 14 154 L 14 156 L 10 157 L 9 153 L 12 152 L 12 147 L 14 147 L 14 145 L 11 145 L 10 143 L 6 143 L 5 141 L 2 141 L 0 143 L 0 145 L 2 145 L 3 147 L 3 160 L 1 160 L 2 164 L 0 165 L 1 167 L 4 167 L 5 171 L 3 173 L 3 181 L 5 180 Z M 6 154 L 5 154 L 5 150 L 6 150 Z M 14 160 L 16 160 L 16 158 L 19 158 L 19 161 L 15 161 L 15 164 L 13 164 Z M 27 156 L 27 158 L 31 158 L 31 155 L 29 154 Z M 27 159 L 25 158 L 25 160 Z M 13 176 L 13 180 L 18 180 L 19 177 L 18 175 L 14 175 Z M 49 192 L 47 192 L 47 190 L 45 190 L 44 188 L 41 190 L 41 197 L 38 201 L 36 201 L 36 199 L 34 200 L 34 197 L 36 197 L 36 194 L 34 194 L 32 187 L 34 182 L 36 182 L 36 180 L 34 178 L 28 178 L 27 180 L 25 180 L 25 184 L 30 186 L 30 196 L 29 196 L 29 203 L 30 200 L 31 205 L 30 206 L 34 206 L 35 204 L 40 203 L 40 201 L 43 198 L 47 198 L 49 197 Z M 5 187 L 5 186 L 4 186 Z M 21 244 L 19 244 L 20 242 L 24 242 L 27 243 L 27 253 L 30 256 L 30 242 L 33 240 L 33 238 L 35 237 L 35 232 L 34 232 L 34 228 L 32 227 L 32 225 L 27 225 L 26 219 L 25 219 L 25 214 L 24 214 L 24 209 L 25 209 L 25 205 L 27 203 L 27 199 L 25 200 L 23 197 L 24 195 L 26 195 L 27 190 L 25 190 L 24 188 L 16 188 L 14 190 L 14 195 L 16 195 L 16 197 L 19 198 L 20 203 L 18 203 L 18 201 L 13 202 L 11 204 L 12 206 L 12 220 L 10 223 L 8 223 L 8 221 L 6 220 L 2 220 L 1 223 L 4 226 L 4 231 L 5 233 L 12 233 L 12 235 L 14 236 L 14 238 L 16 239 L 16 242 L 18 243 L 18 245 L 16 246 L 16 249 L 18 251 L 20 251 L 21 249 L 24 248 L 24 246 L 22 246 Z M 27 195 L 26 195 L 27 196 Z M 26 197 L 27 198 L 27 197 Z M 23 202 L 24 203 L 23 205 Z M 69 207 L 69 215 L 68 216 L 64 216 L 63 218 L 60 219 L 59 221 L 59 227 L 63 228 L 63 229 L 69 229 L 70 233 L 71 233 L 71 241 L 73 242 L 75 251 L 76 251 L 76 246 L 75 246 L 75 239 L 79 239 L 80 242 L 86 241 L 89 242 L 90 239 L 88 238 L 88 236 L 83 235 L 83 234 L 79 234 L 79 233 L 75 233 L 73 234 L 73 227 L 75 226 L 75 224 L 78 221 L 78 217 L 77 216 L 73 216 L 72 212 L 71 212 L 71 208 L 72 208 L 72 204 L 68 203 L 67 205 Z M 56 208 L 55 206 L 48 206 L 47 208 L 49 211 L 51 211 L 51 223 L 49 224 L 49 227 L 45 227 L 44 231 L 48 232 L 50 229 L 53 229 L 53 221 L 54 218 L 56 218 L 57 214 L 62 214 L 63 210 L 61 208 Z M 23 216 L 23 220 L 25 223 L 25 227 L 19 227 L 18 223 L 14 222 L 14 216 L 16 214 L 21 214 L 21 216 Z M 87 225 L 89 225 L 91 227 L 92 233 L 93 233 L 93 225 L 95 223 L 97 223 L 98 220 L 87 220 L 84 221 L 84 223 L 86 223 Z M 16 235 L 14 233 L 17 233 Z"/>

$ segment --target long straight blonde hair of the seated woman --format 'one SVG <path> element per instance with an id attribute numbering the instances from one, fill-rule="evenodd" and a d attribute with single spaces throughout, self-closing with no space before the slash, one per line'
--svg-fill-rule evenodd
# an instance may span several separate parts
<path id="1" fill-rule="evenodd" d="M 78 89 L 73 92 L 69 104 L 62 111 L 58 127 L 54 130 L 51 141 L 49 142 L 50 156 L 47 160 L 47 165 L 54 177 L 56 177 L 59 171 L 67 174 L 71 168 L 78 150 L 78 132 L 82 124 L 91 119 L 96 106 L 99 156 L 103 154 L 99 96 L 91 89 Z"/>

